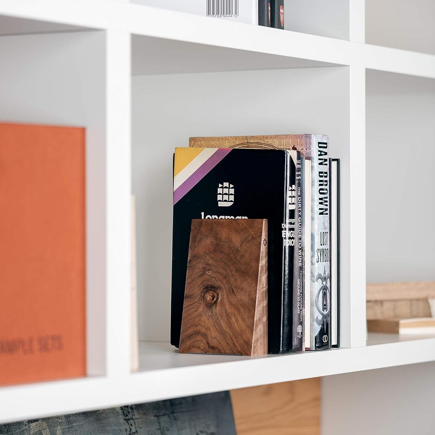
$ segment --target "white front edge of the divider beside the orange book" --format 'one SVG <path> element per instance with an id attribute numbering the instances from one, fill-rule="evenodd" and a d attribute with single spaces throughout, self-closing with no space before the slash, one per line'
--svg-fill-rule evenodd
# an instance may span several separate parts
<path id="1" fill-rule="evenodd" d="M 131 348 L 131 35 L 106 35 L 106 375 L 122 376 Z"/>

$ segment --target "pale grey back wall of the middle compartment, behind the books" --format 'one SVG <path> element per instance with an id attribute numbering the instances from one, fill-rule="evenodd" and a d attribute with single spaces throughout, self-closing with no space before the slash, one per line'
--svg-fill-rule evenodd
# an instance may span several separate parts
<path id="1" fill-rule="evenodd" d="M 168 341 L 174 148 L 190 136 L 326 132 L 348 168 L 349 69 L 135 76 L 132 108 L 139 338 Z"/>

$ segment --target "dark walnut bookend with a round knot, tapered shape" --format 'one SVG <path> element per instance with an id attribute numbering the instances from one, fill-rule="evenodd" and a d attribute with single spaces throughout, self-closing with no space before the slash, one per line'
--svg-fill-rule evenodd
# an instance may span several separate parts
<path id="1" fill-rule="evenodd" d="M 267 220 L 192 220 L 180 353 L 265 355 Z"/>

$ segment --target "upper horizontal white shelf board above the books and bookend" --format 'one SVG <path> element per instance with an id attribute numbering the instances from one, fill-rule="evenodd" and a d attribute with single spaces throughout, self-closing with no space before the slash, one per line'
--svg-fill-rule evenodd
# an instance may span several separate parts
<path id="1" fill-rule="evenodd" d="M 142 41 L 143 47 L 137 43 L 138 52 L 133 56 L 136 74 L 186 72 L 186 64 L 187 72 L 204 72 L 210 68 L 219 71 L 336 64 L 435 78 L 435 56 L 431 54 L 233 23 L 131 3 L 3 0 L 0 2 L 0 15 L 27 19 L 29 27 L 34 26 L 31 20 L 38 20 L 88 29 L 119 30 L 145 39 L 166 40 L 145 40 Z M 20 29 L 26 30 L 23 23 Z M 49 28 L 46 30 L 50 31 Z M 192 44 L 192 47 L 180 46 L 180 43 Z M 159 44 L 163 44 L 163 50 L 159 50 Z M 180 60 L 180 49 L 187 50 L 186 59 Z M 210 64 L 207 50 L 216 50 L 210 51 L 214 68 L 204 66 Z M 253 54 L 249 55 L 250 52 Z M 175 56 L 173 61 L 171 55 Z M 308 61 L 308 64 L 300 64 L 301 60 Z M 153 67 L 152 64 L 156 65 Z"/>

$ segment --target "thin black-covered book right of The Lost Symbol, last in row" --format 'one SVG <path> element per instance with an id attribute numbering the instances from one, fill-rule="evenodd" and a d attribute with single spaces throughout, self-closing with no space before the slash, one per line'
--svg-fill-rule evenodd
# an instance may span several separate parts
<path id="1" fill-rule="evenodd" d="M 340 159 L 329 159 L 331 234 L 331 347 L 340 347 Z"/>

